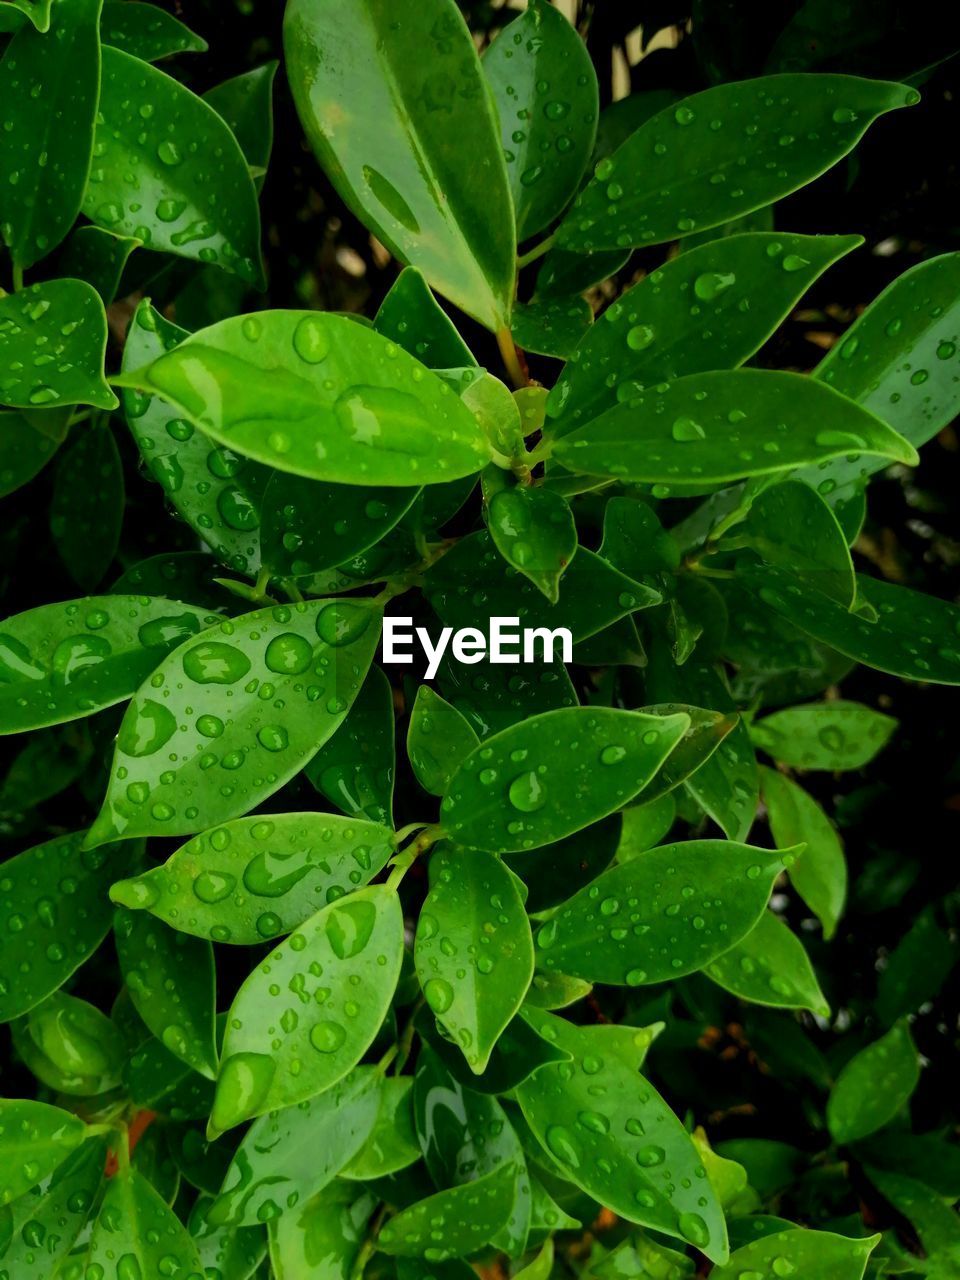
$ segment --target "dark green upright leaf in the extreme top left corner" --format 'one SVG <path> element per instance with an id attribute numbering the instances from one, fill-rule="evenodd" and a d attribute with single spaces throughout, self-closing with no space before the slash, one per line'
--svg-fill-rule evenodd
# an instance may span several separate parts
<path id="1" fill-rule="evenodd" d="M 54 38 L 23 27 L 0 63 L 0 230 L 20 269 L 56 248 L 81 210 L 100 90 L 100 6 L 60 0 Z"/>

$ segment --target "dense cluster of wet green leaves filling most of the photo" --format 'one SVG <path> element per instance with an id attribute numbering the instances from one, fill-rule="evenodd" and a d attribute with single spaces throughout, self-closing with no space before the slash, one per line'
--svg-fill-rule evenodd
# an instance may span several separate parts
<path id="1" fill-rule="evenodd" d="M 287 5 L 307 140 L 403 264 L 367 320 L 244 306 L 275 63 L 201 97 L 164 10 L 0 5 L 0 485 L 54 458 L 99 593 L 0 625 L 5 820 L 51 836 L 0 878 L 0 1274 L 957 1274 L 960 1152 L 910 1112 L 954 942 L 924 910 L 831 1011 L 817 777 L 897 728 L 860 667 L 960 684 L 960 608 L 851 553 L 960 407 L 960 255 L 812 374 L 754 360 L 861 244 L 774 204 L 919 93 L 787 58 L 600 113 L 563 14 L 509 17 L 480 58 L 453 0 Z M 179 529 L 111 581 L 133 452 Z M 572 662 L 419 682 L 388 612 Z M 704 1051 L 810 1140 L 717 1140 Z"/>

